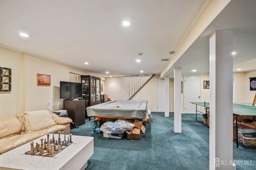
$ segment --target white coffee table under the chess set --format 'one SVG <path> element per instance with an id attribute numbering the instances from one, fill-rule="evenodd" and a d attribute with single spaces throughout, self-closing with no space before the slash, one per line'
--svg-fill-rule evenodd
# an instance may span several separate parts
<path id="1" fill-rule="evenodd" d="M 66 135 L 66 140 L 69 135 Z M 61 135 L 64 140 L 64 135 Z M 58 134 L 54 134 L 55 140 Z M 46 139 L 47 135 L 34 140 L 34 146 L 41 143 L 40 139 Z M 52 134 L 50 134 L 52 139 Z M 84 170 L 87 161 L 94 152 L 94 138 L 72 135 L 73 143 L 54 157 L 36 156 L 25 154 L 30 150 L 30 143 L 26 143 L 18 148 L 12 149 L 0 155 L 0 170 Z"/>

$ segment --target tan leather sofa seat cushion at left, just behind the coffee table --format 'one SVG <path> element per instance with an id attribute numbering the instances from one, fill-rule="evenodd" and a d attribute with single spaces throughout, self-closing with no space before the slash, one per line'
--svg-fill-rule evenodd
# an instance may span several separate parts
<path id="1" fill-rule="evenodd" d="M 0 154 L 3 154 L 4 152 L 12 150 L 21 145 L 24 145 L 25 143 L 33 141 L 39 137 L 40 135 L 38 133 L 28 133 L 24 135 L 15 135 L 5 139 L 0 139 Z M 28 150 L 30 150 L 30 148 L 28 148 Z M 25 151 L 26 150 L 24 150 L 24 152 Z"/>

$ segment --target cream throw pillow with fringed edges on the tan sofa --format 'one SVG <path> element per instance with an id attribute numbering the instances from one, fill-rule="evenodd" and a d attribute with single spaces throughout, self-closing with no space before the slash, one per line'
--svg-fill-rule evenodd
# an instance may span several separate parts
<path id="1" fill-rule="evenodd" d="M 26 133 L 33 133 L 56 125 L 48 110 L 24 111 Z"/>

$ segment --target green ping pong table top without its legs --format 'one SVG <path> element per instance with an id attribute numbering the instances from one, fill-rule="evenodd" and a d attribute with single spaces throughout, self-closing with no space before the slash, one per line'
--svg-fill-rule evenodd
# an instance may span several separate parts
<path id="1" fill-rule="evenodd" d="M 203 107 L 209 107 L 209 102 L 190 102 Z M 254 103 L 233 103 L 233 113 L 235 115 L 246 115 L 246 116 L 256 116 L 256 105 Z"/>

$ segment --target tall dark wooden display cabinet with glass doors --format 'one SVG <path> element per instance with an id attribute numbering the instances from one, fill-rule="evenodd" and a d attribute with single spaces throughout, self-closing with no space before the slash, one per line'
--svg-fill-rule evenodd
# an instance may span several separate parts
<path id="1" fill-rule="evenodd" d="M 87 106 L 100 104 L 100 78 L 94 76 L 81 76 L 82 97 Z"/>

